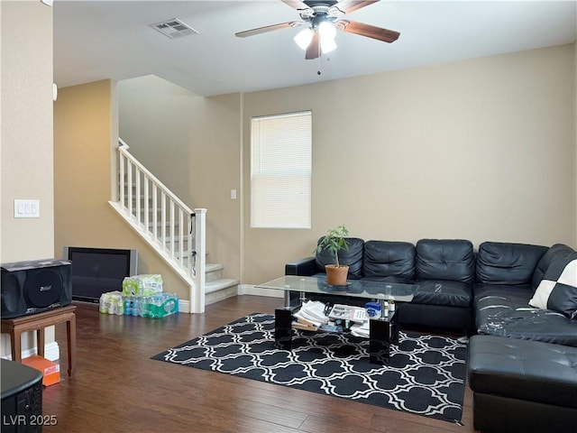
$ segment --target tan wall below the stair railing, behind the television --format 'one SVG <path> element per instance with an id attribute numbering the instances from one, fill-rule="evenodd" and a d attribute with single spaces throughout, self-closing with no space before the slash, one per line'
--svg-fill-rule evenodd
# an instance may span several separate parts
<path id="1" fill-rule="evenodd" d="M 164 291 L 188 287 L 108 204 L 117 133 L 116 83 L 61 88 L 54 105 L 55 254 L 65 245 L 135 248 L 139 273 L 160 273 Z"/>

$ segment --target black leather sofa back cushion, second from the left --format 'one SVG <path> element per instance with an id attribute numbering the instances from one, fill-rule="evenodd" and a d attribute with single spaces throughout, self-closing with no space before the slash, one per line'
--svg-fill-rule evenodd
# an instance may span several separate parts
<path id="1" fill-rule="evenodd" d="M 368 278 L 415 280 L 415 245 L 392 241 L 365 242 L 362 273 Z"/>

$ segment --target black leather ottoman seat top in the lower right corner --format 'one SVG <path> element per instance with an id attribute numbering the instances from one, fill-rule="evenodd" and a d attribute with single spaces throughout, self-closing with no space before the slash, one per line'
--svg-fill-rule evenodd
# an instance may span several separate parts
<path id="1" fill-rule="evenodd" d="M 472 336 L 468 376 L 473 392 L 577 408 L 576 347 Z"/>

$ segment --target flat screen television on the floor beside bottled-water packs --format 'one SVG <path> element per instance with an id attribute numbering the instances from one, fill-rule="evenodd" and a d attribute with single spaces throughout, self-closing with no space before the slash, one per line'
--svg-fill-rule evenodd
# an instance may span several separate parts
<path id="1" fill-rule="evenodd" d="M 137 250 L 65 246 L 64 258 L 72 262 L 72 299 L 86 302 L 123 290 L 124 277 L 138 272 Z"/>

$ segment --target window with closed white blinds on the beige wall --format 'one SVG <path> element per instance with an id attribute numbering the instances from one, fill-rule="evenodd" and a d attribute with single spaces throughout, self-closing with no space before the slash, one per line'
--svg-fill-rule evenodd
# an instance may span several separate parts
<path id="1" fill-rule="evenodd" d="M 312 113 L 251 119 L 251 226 L 310 228 Z"/>

